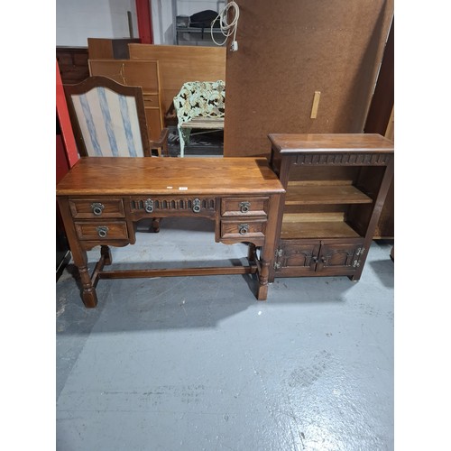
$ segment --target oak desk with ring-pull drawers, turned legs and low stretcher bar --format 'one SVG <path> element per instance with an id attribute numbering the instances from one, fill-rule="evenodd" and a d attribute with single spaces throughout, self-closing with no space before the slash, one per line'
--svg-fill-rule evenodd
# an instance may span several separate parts
<path id="1" fill-rule="evenodd" d="M 85 306 L 97 306 L 99 279 L 211 274 L 256 273 L 257 299 L 266 299 L 282 193 L 262 158 L 81 158 L 57 198 Z M 138 221 L 165 216 L 214 220 L 216 242 L 249 244 L 249 266 L 104 271 L 108 246 L 134 244 Z M 87 250 L 97 245 L 100 260 L 89 274 Z"/>

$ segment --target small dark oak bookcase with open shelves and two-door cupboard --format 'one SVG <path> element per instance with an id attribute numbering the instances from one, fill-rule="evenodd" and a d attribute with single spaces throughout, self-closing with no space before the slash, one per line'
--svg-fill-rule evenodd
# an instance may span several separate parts
<path id="1" fill-rule="evenodd" d="M 281 198 L 276 277 L 358 281 L 393 177 L 393 143 L 376 133 L 270 134 Z"/>

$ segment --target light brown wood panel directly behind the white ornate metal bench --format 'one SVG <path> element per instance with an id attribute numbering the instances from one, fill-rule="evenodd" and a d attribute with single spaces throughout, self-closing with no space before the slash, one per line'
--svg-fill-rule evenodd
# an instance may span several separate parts
<path id="1" fill-rule="evenodd" d="M 226 49 L 179 45 L 129 44 L 131 60 L 158 60 L 161 107 L 168 112 L 172 99 L 187 81 L 226 80 Z"/>

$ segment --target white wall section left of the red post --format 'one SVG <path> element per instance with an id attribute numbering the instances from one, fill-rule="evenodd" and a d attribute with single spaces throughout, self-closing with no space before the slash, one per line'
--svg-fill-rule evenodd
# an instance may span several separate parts
<path id="1" fill-rule="evenodd" d="M 130 38 L 127 11 L 138 38 L 134 0 L 56 0 L 56 45 L 86 47 L 87 38 Z"/>

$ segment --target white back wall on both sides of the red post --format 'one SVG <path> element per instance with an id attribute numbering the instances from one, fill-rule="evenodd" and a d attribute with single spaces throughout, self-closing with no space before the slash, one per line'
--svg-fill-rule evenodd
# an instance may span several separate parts
<path id="1" fill-rule="evenodd" d="M 220 12 L 226 1 L 149 0 L 155 44 L 174 43 L 175 15 L 206 9 Z M 129 38 L 127 11 L 132 13 L 133 37 L 139 38 L 135 0 L 56 0 L 56 45 L 86 47 L 87 38 Z"/>

